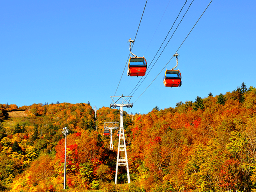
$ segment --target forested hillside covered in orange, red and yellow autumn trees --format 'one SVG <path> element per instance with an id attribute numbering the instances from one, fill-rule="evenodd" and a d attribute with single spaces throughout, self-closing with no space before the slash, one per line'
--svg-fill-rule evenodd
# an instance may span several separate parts
<path id="1" fill-rule="evenodd" d="M 64 127 L 70 192 L 255 191 L 256 88 L 176 104 L 148 114 L 124 112 L 126 168 L 114 182 L 114 151 L 104 122 L 119 122 L 118 109 L 89 104 L 0 104 L 0 190 L 63 191 Z"/>

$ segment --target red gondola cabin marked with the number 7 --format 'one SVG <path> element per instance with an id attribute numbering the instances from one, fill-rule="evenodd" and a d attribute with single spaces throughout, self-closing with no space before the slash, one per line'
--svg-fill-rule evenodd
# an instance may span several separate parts
<path id="1" fill-rule="evenodd" d="M 179 70 L 167 70 L 164 74 L 164 86 L 180 87 L 182 84 L 181 73 Z"/>

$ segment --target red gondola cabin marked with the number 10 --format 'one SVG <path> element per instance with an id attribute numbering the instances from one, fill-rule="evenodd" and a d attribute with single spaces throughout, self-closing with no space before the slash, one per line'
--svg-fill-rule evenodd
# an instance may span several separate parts
<path id="1" fill-rule="evenodd" d="M 130 57 L 128 63 L 128 72 L 129 76 L 144 76 L 147 70 L 147 61 L 144 57 Z"/>

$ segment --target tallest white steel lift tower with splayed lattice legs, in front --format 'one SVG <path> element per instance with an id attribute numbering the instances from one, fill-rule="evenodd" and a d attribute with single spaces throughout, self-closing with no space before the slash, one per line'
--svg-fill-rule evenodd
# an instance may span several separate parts
<path id="1" fill-rule="evenodd" d="M 123 123 L 123 107 L 132 107 L 130 104 L 130 99 L 132 96 L 111 96 L 112 104 L 111 107 L 120 107 L 120 129 L 119 129 L 119 141 L 118 141 L 118 152 L 117 152 L 117 160 L 116 160 L 116 178 L 115 184 L 117 184 L 117 174 L 118 174 L 118 166 L 126 166 L 127 170 L 127 179 L 128 183 L 130 183 L 130 173 L 129 173 L 129 166 L 128 166 L 128 158 L 126 152 L 126 144 L 124 138 L 124 123 Z M 117 102 L 121 102 L 117 104 Z"/>

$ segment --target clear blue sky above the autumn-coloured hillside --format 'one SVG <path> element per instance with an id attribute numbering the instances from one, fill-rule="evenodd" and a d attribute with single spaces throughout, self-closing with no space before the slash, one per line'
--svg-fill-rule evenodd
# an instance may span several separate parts
<path id="1" fill-rule="evenodd" d="M 148 65 L 184 2 L 148 0 L 132 49 L 137 56 L 145 56 Z M 191 2 L 188 0 L 184 6 L 163 46 Z M 254 0 L 213 0 L 178 50 L 182 86 L 164 87 L 165 70 L 156 78 L 209 2 L 194 0 L 162 55 L 132 95 L 134 106 L 129 113 L 146 114 L 155 106 L 175 107 L 180 101 L 207 97 L 209 92 L 214 96 L 225 94 L 242 82 L 256 87 Z M 110 96 L 116 92 L 129 56 L 127 41 L 135 38 L 145 3 L 146 0 L 2 1 L 0 103 L 24 106 L 90 101 L 97 108 L 110 106 Z M 173 58 L 166 68 L 175 64 Z M 128 96 L 140 80 L 128 77 L 126 72 L 127 66 L 116 96 Z"/>

